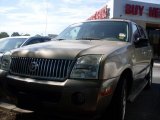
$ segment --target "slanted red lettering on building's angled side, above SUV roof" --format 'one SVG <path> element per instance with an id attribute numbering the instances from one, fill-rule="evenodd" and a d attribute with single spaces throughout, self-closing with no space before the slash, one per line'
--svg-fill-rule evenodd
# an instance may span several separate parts
<path id="1" fill-rule="evenodd" d="M 88 18 L 88 20 L 105 19 L 109 17 L 109 9 L 107 6 L 98 10 L 95 14 Z"/>

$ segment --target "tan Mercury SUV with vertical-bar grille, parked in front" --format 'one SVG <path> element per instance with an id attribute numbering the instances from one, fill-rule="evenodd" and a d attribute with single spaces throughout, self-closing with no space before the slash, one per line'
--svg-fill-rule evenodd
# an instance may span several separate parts
<path id="1" fill-rule="evenodd" d="M 54 41 L 6 52 L 1 69 L 19 106 L 48 105 L 71 116 L 108 111 L 124 120 L 127 101 L 150 88 L 152 66 L 145 30 L 109 19 L 72 24 Z"/>

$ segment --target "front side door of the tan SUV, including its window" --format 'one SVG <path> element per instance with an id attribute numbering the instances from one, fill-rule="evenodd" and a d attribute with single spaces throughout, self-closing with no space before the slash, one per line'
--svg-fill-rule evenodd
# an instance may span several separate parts
<path id="1" fill-rule="evenodd" d="M 134 84 L 135 86 L 140 85 L 144 80 L 146 75 L 146 43 L 142 45 L 134 44 L 138 38 L 141 38 L 141 33 L 136 24 L 132 24 L 133 32 L 133 46 L 134 46 L 134 59 L 133 59 L 133 74 L 134 74 Z"/>

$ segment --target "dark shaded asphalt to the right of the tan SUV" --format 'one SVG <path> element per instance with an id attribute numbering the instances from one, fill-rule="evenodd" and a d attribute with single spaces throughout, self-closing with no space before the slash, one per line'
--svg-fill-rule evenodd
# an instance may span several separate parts
<path id="1" fill-rule="evenodd" d="M 126 120 L 160 120 L 160 62 L 154 63 L 152 88 L 127 104 Z"/>

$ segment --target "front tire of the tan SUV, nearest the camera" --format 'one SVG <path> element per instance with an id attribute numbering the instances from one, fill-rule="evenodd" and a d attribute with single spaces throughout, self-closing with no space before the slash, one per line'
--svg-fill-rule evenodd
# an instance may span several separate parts
<path id="1" fill-rule="evenodd" d="M 120 79 L 111 103 L 111 120 L 124 120 L 127 104 L 126 77 Z"/>

